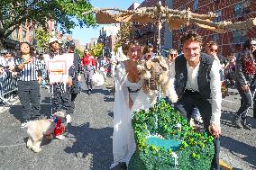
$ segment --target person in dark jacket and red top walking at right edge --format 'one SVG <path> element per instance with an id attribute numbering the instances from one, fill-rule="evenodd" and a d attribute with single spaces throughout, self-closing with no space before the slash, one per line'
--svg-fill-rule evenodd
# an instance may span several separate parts
<path id="1" fill-rule="evenodd" d="M 253 118 L 256 119 L 256 39 L 251 38 L 245 41 L 243 53 L 239 53 L 235 65 L 236 87 L 241 95 L 241 107 L 235 115 L 235 125 L 238 129 L 242 127 L 251 130 L 248 122 L 250 107 L 253 108 Z"/>

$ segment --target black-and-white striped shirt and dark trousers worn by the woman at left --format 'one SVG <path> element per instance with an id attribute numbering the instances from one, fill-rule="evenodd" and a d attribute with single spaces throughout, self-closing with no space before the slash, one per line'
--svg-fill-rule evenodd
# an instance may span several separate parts
<path id="1" fill-rule="evenodd" d="M 18 94 L 23 104 L 23 121 L 40 117 L 40 85 L 38 77 L 41 76 L 39 58 L 32 57 L 32 62 L 25 64 L 21 70 L 18 66 L 23 63 L 23 58 L 14 60 L 15 71 L 19 72 Z"/>

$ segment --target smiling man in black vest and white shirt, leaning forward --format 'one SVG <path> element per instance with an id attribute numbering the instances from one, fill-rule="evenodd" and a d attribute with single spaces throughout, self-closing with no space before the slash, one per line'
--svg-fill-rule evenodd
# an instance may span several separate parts
<path id="1" fill-rule="evenodd" d="M 178 94 L 178 102 L 174 103 L 180 114 L 189 122 L 195 107 L 203 119 L 206 133 L 215 140 L 215 155 L 212 168 L 219 170 L 219 151 L 221 134 L 221 81 L 217 61 L 202 53 L 202 37 L 195 31 L 185 33 L 180 42 L 182 55 L 172 63 L 169 81 Z"/>

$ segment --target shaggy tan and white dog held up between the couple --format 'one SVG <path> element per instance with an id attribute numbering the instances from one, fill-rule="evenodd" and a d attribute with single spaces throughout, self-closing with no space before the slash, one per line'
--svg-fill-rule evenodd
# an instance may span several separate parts
<path id="1" fill-rule="evenodd" d="M 169 97 L 172 103 L 178 101 L 178 95 L 174 88 L 170 88 L 171 84 L 169 79 L 169 66 L 164 58 L 156 57 L 149 60 L 142 59 L 137 66 L 139 72 L 144 79 L 144 85 L 146 86 L 148 93 L 151 97 L 151 104 L 157 102 L 157 96 L 159 93 L 159 85 L 163 94 Z"/>

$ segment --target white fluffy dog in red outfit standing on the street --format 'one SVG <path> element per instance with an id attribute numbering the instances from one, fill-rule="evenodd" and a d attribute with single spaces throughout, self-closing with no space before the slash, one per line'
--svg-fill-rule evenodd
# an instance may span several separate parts
<path id="1" fill-rule="evenodd" d="M 48 137 L 47 139 L 52 139 L 51 135 L 54 134 L 57 139 L 64 139 L 65 136 L 62 135 L 65 131 L 65 127 L 62 123 L 64 119 L 64 112 L 55 112 L 51 119 L 29 121 L 27 124 L 27 133 L 29 135 L 27 148 L 31 148 L 34 152 L 40 152 L 43 136 Z M 68 121 L 67 119 L 67 122 Z"/>

